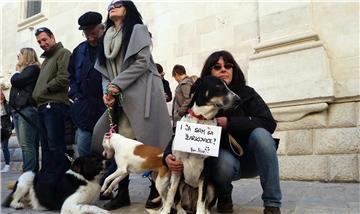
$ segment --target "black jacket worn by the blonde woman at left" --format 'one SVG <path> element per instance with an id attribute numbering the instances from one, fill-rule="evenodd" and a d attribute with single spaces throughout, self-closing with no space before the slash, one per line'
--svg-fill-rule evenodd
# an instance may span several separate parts
<path id="1" fill-rule="evenodd" d="M 9 103 L 11 106 L 21 110 L 27 106 L 35 106 L 32 99 L 32 92 L 35 88 L 40 68 L 37 65 L 30 65 L 20 73 L 11 77 L 11 90 Z"/>

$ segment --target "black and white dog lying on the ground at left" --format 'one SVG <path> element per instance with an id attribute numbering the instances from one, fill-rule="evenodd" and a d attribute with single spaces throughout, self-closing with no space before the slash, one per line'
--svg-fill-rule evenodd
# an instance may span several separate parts
<path id="1" fill-rule="evenodd" d="M 2 205 L 15 209 L 61 209 L 64 214 L 108 214 L 107 210 L 90 205 L 99 196 L 102 169 L 102 159 L 89 155 L 77 158 L 65 173 L 25 172 Z"/>

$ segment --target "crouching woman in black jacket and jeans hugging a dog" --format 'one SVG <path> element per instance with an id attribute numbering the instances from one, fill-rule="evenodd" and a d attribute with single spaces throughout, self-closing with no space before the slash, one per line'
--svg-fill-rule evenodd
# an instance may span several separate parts
<path id="1" fill-rule="evenodd" d="M 214 52 L 207 58 L 200 77 L 207 75 L 223 79 L 240 97 L 233 108 L 216 116 L 218 126 L 222 127 L 221 146 L 218 158 L 210 158 L 208 166 L 218 195 L 218 212 L 233 212 L 232 181 L 259 175 L 264 213 L 280 213 L 277 145 L 271 137 L 276 122 L 268 106 L 253 88 L 246 85 L 244 74 L 229 52 Z M 243 156 L 238 156 L 229 146 L 229 134 L 244 149 Z"/>

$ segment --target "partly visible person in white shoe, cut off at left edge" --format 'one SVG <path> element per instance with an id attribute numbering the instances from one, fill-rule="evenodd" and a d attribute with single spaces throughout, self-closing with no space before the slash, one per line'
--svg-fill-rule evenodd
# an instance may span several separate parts
<path id="1" fill-rule="evenodd" d="M 11 121 L 11 108 L 7 103 L 5 95 L 1 88 L 1 149 L 3 150 L 5 166 L 0 172 L 10 171 L 10 152 L 9 152 L 9 139 L 12 132 L 12 121 Z"/>

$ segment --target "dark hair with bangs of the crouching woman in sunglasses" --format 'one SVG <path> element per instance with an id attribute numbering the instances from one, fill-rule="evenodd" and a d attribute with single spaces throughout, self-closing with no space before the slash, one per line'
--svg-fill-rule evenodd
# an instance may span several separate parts
<path id="1" fill-rule="evenodd" d="M 212 53 L 205 61 L 204 67 L 201 70 L 200 78 L 204 76 L 211 75 L 212 67 L 219 61 L 220 57 L 222 57 L 225 63 L 231 63 L 234 65 L 233 67 L 233 78 L 229 84 L 229 87 L 234 90 L 236 88 L 242 88 L 246 85 L 246 80 L 243 72 L 240 69 L 240 66 L 236 63 L 234 57 L 230 52 L 222 50 L 216 51 Z"/>

